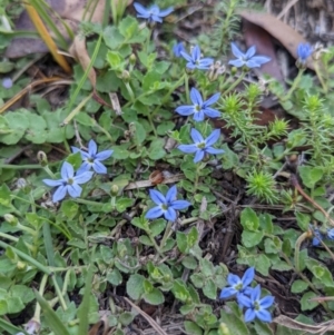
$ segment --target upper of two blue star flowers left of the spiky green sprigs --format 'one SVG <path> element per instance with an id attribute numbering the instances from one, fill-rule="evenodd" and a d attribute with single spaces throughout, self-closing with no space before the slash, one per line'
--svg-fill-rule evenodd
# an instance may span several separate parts
<path id="1" fill-rule="evenodd" d="M 199 91 L 196 88 L 190 90 L 190 100 L 194 105 L 190 106 L 179 106 L 176 108 L 176 112 L 183 116 L 189 116 L 194 114 L 195 121 L 203 121 L 205 115 L 210 118 L 218 118 L 220 112 L 216 109 L 210 108 L 209 106 L 215 104 L 220 97 L 220 93 L 213 95 L 208 100 L 203 101 L 203 98 Z"/>

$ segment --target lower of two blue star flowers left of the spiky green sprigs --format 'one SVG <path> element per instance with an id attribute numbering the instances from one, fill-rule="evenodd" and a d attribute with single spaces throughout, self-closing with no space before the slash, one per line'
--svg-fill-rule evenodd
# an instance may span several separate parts
<path id="1" fill-rule="evenodd" d="M 220 136 L 219 129 L 214 130 L 206 139 L 204 139 L 200 132 L 193 128 L 190 131 L 190 136 L 194 140 L 193 145 L 179 145 L 177 148 L 186 154 L 196 152 L 194 162 L 198 162 L 199 160 L 202 160 L 205 154 L 218 155 L 225 152 L 225 150 L 223 149 L 216 149 L 212 147 Z"/>

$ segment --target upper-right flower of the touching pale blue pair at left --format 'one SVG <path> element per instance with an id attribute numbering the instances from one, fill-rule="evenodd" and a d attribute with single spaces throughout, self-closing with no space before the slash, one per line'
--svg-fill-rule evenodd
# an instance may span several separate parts
<path id="1" fill-rule="evenodd" d="M 80 152 L 84 159 L 82 165 L 78 169 L 78 175 L 85 171 L 89 171 L 92 168 L 97 174 L 106 174 L 107 168 L 101 164 L 101 160 L 106 160 L 109 158 L 114 150 L 105 150 L 101 152 L 97 152 L 97 145 L 95 140 L 90 140 L 88 142 L 88 152 L 80 150 L 76 147 L 71 147 L 72 152 Z"/>

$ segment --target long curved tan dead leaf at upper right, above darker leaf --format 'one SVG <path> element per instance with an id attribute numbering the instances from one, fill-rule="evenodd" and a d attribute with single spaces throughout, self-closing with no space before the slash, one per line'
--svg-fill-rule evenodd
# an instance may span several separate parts
<path id="1" fill-rule="evenodd" d="M 250 10 L 243 10 L 238 13 L 243 19 L 259 26 L 269 32 L 288 50 L 288 52 L 295 59 L 297 59 L 298 45 L 306 43 L 306 40 L 297 31 L 269 13 Z M 310 69 L 314 70 L 314 65 L 311 57 L 308 58 L 306 65 Z"/>

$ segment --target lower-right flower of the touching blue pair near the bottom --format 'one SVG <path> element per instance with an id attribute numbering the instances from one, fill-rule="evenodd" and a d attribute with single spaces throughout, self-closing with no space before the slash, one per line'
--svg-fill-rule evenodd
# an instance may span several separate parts
<path id="1" fill-rule="evenodd" d="M 259 297 L 259 285 L 257 285 L 255 288 L 252 288 L 249 297 L 246 295 L 239 297 L 240 304 L 247 308 L 245 312 L 245 322 L 252 322 L 256 317 L 264 323 L 272 322 L 272 314 L 267 311 L 267 308 L 274 304 L 275 298 L 271 295 L 267 295 L 262 299 Z"/>

